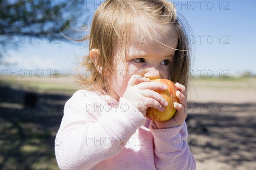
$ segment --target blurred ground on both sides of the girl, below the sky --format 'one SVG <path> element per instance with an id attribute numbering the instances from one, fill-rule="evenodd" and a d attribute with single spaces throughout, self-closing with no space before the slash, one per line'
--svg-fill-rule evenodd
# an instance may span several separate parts
<path id="1" fill-rule="evenodd" d="M 58 170 L 55 135 L 78 87 L 68 76 L 0 82 L 0 169 Z M 197 169 L 256 168 L 255 77 L 193 78 L 186 122 Z"/>

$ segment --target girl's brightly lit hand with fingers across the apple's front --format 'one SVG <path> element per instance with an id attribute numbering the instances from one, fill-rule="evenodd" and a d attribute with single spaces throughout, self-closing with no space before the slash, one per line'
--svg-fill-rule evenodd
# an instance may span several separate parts
<path id="1" fill-rule="evenodd" d="M 166 89 L 167 86 L 162 83 L 150 82 L 150 79 L 134 74 L 128 81 L 123 97 L 145 116 L 148 107 L 164 111 L 168 103 L 154 90 L 165 91 Z"/>

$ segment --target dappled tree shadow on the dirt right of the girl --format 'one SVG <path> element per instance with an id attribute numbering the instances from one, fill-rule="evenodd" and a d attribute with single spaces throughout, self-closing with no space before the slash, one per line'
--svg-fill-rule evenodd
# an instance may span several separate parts
<path id="1" fill-rule="evenodd" d="M 255 103 L 188 103 L 190 150 L 202 169 L 256 169 Z"/>

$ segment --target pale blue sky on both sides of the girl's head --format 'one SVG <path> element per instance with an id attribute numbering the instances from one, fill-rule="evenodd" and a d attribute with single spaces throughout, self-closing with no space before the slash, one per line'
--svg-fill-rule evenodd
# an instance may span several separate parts
<path id="1" fill-rule="evenodd" d="M 93 2 L 93 1 L 92 1 Z M 173 1 L 177 11 L 182 14 L 192 27 L 191 42 L 195 45 L 193 56 L 192 76 L 236 75 L 244 71 L 256 74 L 256 1 L 229 0 L 229 1 Z M 92 15 L 93 4 L 83 11 Z M 23 37 L 24 38 L 24 37 Z M 72 71 L 75 66 L 74 54 L 85 54 L 77 43 L 56 42 L 40 38 L 17 38 L 17 49 L 10 49 L 6 53 L 9 63 L 1 65 L 3 69 L 38 69 L 44 74 Z M 29 42 L 30 41 L 30 42 Z M 15 40 L 11 42 L 16 43 Z M 16 63 L 16 64 L 15 64 Z M 49 70 L 50 69 L 50 70 Z M 48 72 L 47 72 L 48 71 Z"/>

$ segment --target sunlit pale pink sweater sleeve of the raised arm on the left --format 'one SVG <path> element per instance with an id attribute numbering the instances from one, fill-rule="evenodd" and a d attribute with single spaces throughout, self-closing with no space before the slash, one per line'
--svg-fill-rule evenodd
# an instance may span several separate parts
<path id="1" fill-rule="evenodd" d="M 137 128 L 145 124 L 142 113 L 134 111 L 131 103 L 124 98 L 120 98 L 116 111 L 104 109 L 99 102 L 93 103 L 101 111 L 99 116 L 95 116 L 96 110 L 95 113 L 88 111 L 92 103 L 86 95 L 75 94 L 65 104 L 55 139 L 55 155 L 61 169 L 94 167 L 119 153 L 125 145 L 125 140 L 120 139 L 129 139 Z"/>

